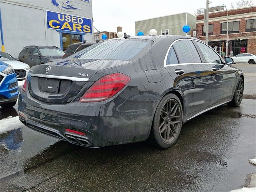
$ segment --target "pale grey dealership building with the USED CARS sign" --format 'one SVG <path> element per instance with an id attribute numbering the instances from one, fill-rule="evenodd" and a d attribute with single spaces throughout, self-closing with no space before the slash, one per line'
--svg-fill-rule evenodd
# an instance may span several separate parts
<path id="1" fill-rule="evenodd" d="M 2 51 L 18 57 L 24 46 L 92 40 L 92 0 L 0 0 Z"/>

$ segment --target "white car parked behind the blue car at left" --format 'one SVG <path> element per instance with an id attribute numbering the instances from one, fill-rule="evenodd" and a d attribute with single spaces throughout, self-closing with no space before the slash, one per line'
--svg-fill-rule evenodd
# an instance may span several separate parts
<path id="1" fill-rule="evenodd" d="M 30 70 L 28 64 L 17 61 L 6 52 L 0 52 L 0 61 L 3 61 L 14 68 L 18 81 L 26 79 L 28 71 Z"/>

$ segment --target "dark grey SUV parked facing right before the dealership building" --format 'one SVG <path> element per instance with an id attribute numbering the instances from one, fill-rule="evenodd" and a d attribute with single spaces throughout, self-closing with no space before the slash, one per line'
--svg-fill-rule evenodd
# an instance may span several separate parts
<path id="1" fill-rule="evenodd" d="M 55 46 L 26 46 L 19 53 L 19 60 L 30 67 L 53 60 L 60 60 L 65 53 Z"/>

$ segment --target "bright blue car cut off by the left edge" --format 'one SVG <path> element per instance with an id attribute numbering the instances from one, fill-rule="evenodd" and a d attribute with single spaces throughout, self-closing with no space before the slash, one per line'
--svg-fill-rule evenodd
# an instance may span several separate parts
<path id="1" fill-rule="evenodd" d="M 2 108 L 13 107 L 18 95 L 18 82 L 14 69 L 0 61 L 0 106 Z"/>

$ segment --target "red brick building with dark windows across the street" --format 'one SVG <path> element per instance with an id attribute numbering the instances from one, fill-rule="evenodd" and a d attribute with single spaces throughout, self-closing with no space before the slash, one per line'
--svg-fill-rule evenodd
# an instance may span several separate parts
<path id="1" fill-rule="evenodd" d="M 209 45 L 222 47 L 226 52 L 226 10 L 209 13 Z M 204 14 L 196 17 L 197 38 L 205 41 Z M 252 53 L 256 55 L 256 6 L 228 10 L 228 55 Z"/>

